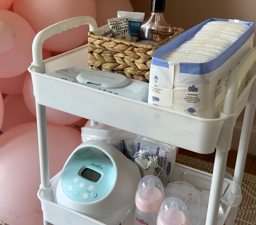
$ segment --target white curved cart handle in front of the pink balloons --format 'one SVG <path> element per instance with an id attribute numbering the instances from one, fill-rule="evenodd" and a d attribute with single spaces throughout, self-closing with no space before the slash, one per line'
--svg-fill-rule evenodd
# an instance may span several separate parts
<path id="1" fill-rule="evenodd" d="M 40 70 L 42 73 L 45 73 L 45 65 L 42 58 L 42 45 L 46 39 L 50 38 L 54 34 L 59 34 L 68 29 L 74 27 L 79 27 L 80 25 L 88 24 L 90 31 L 93 31 L 97 28 L 97 23 L 95 19 L 91 16 L 79 16 L 70 19 L 63 20 L 61 22 L 55 23 L 49 27 L 46 27 L 44 30 L 41 30 L 37 33 L 33 40 L 32 44 L 32 56 L 33 56 L 33 65 L 42 67 Z"/>

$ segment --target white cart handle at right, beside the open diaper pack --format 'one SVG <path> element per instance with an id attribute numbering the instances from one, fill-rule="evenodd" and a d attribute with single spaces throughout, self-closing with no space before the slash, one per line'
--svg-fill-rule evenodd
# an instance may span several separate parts
<path id="1" fill-rule="evenodd" d="M 225 114 L 234 114 L 235 113 L 235 104 L 238 96 L 239 88 L 241 86 L 242 80 L 245 78 L 247 72 L 250 70 L 251 66 L 256 61 L 256 47 L 253 48 L 240 62 L 238 67 L 236 67 L 234 74 L 232 75 L 230 81 L 228 82 L 224 105 L 223 113 Z"/>

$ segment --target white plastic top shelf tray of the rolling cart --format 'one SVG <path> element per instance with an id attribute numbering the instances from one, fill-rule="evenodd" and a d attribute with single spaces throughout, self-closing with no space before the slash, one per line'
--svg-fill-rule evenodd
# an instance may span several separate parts
<path id="1" fill-rule="evenodd" d="M 69 66 L 88 68 L 87 45 L 45 60 L 46 71 Z M 38 73 L 31 66 L 34 95 L 44 106 L 140 134 L 194 152 L 215 150 L 220 130 L 228 115 L 206 119 L 150 105 L 81 84 Z M 245 107 L 255 75 L 236 100 L 237 115 Z M 47 90 L 47 91 L 46 91 Z"/>

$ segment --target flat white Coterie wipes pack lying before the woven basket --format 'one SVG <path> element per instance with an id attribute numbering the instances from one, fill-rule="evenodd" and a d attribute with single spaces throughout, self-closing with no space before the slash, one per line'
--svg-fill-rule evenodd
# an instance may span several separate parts
<path id="1" fill-rule="evenodd" d="M 148 100 L 148 83 L 130 79 L 122 74 L 85 69 L 78 66 L 64 68 L 45 74 L 126 98 L 143 102 L 147 102 Z"/>

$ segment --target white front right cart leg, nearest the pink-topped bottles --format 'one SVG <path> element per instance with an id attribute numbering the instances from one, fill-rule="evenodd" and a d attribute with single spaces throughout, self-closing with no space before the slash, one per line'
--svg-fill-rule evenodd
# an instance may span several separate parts
<path id="1" fill-rule="evenodd" d="M 216 225 L 233 127 L 223 127 L 216 147 L 206 225 Z"/>

